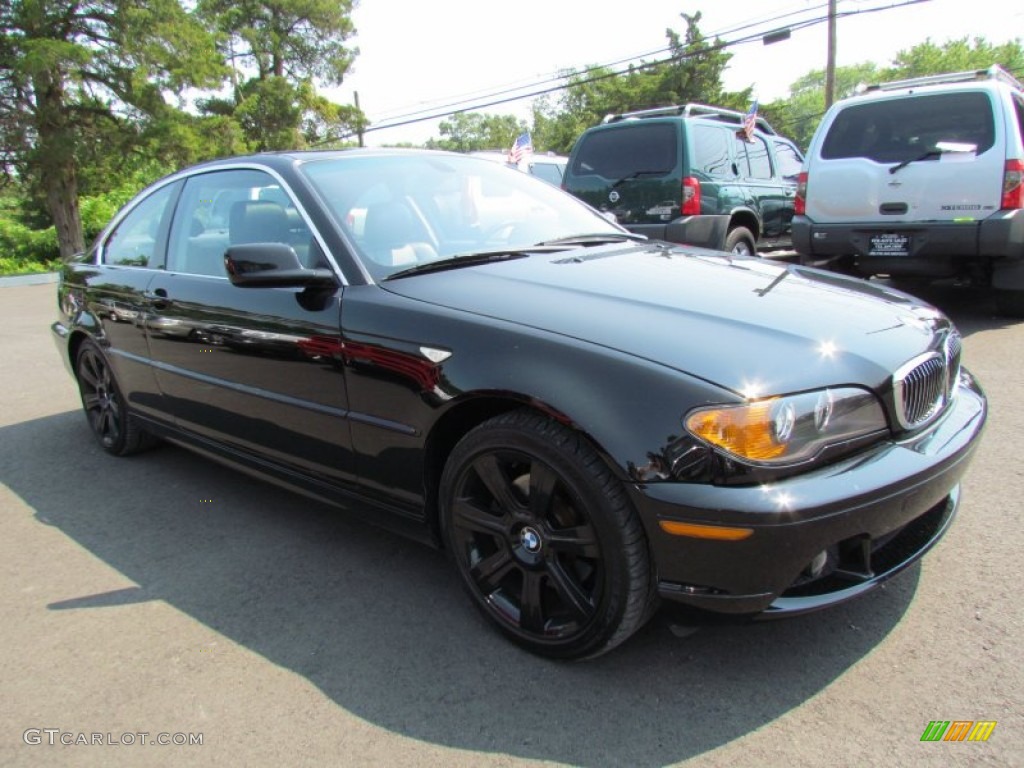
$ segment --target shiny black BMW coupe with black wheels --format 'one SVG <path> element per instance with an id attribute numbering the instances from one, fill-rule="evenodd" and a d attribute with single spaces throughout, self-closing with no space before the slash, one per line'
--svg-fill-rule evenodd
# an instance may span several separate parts
<path id="1" fill-rule="evenodd" d="M 938 310 L 648 241 L 413 151 L 221 160 L 70 260 L 53 325 L 102 447 L 169 440 L 449 553 L 537 653 L 659 600 L 783 615 L 948 529 L 986 418 Z"/>

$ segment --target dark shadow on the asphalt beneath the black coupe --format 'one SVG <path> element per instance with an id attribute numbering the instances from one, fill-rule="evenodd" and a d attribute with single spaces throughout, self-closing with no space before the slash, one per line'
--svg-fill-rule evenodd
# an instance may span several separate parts
<path id="1" fill-rule="evenodd" d="M 136 585 L 49 610 L 163 600 L 394 733 L 580 766 L 664 765 L 763 727 L 869 654 L 920 578 L 790 621 L 691 632 L 663 610 L 559 664 L 493 632 L 442 553 L 170 445 L 113 459 L 79 412 L 0 429 L 0 473 Z"/>

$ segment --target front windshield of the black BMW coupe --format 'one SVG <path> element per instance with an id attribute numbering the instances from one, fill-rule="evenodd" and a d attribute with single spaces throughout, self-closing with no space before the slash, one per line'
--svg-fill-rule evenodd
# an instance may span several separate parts
<path id="1" fill-rule="evenodd" d="M 376 280 L 481 251 L 628 234 L 561 189 L 479 158 L 352 154 L 302 172 Z"/>

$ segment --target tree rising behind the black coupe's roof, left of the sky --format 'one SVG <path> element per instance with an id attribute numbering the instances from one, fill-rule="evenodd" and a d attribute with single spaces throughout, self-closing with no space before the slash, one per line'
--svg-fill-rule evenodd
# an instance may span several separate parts
<path id="1" fill-rule="evenodd" d="M 202 108 L 234 115 L 254 148 L 330 143 L 366 126 L 359 110 L 315 88 L 340 85 L 358 52 L 345 43 L 355 32 L 351 0 L 200 0 L 197 7 L 220 33 L 231 67 L 230 99 Z"/>

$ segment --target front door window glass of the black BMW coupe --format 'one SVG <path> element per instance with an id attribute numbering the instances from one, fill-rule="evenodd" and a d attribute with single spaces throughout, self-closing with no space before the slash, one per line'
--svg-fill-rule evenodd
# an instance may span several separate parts
<path id="1" fill-rule="evenodd" d="M 307 266 L 318 254 L 288 191 L 268 173 L 214 171 L 185 181 L 171 227 L 167 268 L 224 278 L 224 252 L 246 243 L 284 243 Z"/>

